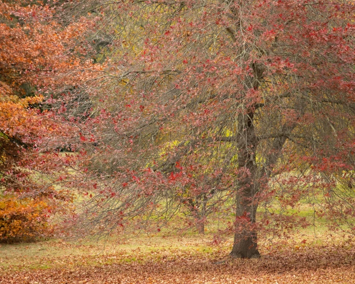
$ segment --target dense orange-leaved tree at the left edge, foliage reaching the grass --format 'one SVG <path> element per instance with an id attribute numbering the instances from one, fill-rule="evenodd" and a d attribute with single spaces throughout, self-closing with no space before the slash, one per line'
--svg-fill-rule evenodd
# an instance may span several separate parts
<path id="1" fill-rule="evenodd" d="M 58 155 L 58 142 L 47 146 L 70 129 L 42 103 L 68 82 L 86 78 L 75 72 L 80 47 L 68 53 L 85 23 L 64 26 L 56 15 L 43 3 L 0 3 L 0 240 L 48 233 L 49 217 L 72 199 L 55 188 L 65 172 L 62 164 L 72 158 Z"/>

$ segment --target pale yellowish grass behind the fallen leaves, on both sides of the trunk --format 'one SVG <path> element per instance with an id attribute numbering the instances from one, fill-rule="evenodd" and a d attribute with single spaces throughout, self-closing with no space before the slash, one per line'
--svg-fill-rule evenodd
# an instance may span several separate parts
<path id="1" fill-rule="evenodd" d="M 309 214 L 304 211 L 304 214 Z M 306 244 L 302 243 L 307 240 Z M 211 257 L 227 256 L 232 239 L 226 239 L 213 245 L 213 234 L 205 236 L 186 234 L 184 236 L 167 236 L 158 233 L 154 236 L 141 235 L 125 241 L 111 238 L 107 241 L 87 241 L 86 243 L 66 242 L 63 240 L 42 240 L 31 243 L 1 244 L 0 271 L 18 271 L 28 269 L 48 269 L 97 266 L 115 263 L 131 263 L 174 259 L 181 256 Z M 314 246 L 344 241 L 343 238 L 331 235 L 324 225 L 306 228 L 294 233 L 290 239 L 279 240 L 283 248 Z M 271 243 L 260 240 L 262 254 L 267 254 Z"/>

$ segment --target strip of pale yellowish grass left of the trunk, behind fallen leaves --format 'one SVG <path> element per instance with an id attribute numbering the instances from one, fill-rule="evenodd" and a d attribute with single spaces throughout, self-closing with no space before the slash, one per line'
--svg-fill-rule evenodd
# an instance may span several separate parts
<path id="1" fill-rule="evenodd" d="M 139 236 L 119 242 L 109 239 L 79 244 L 62 240 L 43 240 L 31 243 L 1 244 L 0 270 L 46 269 L 62 266 L 102 265 L 144 262 L 189 253 L 212 253 L 209 237 Z"/>

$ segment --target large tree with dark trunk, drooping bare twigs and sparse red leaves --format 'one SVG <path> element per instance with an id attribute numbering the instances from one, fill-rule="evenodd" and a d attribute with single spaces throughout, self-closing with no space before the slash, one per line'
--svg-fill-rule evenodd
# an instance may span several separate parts
<path id="1" fill-rule="evenodd" d="M 231 255 L 253 258 L 307 200 L 354 233 L 351 1 L 95 3 L 114 40 L 72 140 L 86 232 L 234 208 Z"/>

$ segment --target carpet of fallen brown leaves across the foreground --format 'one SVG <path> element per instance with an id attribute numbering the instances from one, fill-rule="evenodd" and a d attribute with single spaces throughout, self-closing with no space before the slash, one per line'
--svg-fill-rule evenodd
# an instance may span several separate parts
<path id="1" fill-rule="evenodd" d="M 258 260 L 227 259 L 219 265 L 216 260 L 186 254 L 144 263 L 8 271 L 0 284 L 355 283 L 355 248 L 342 245 L 273 251 Z"/>

